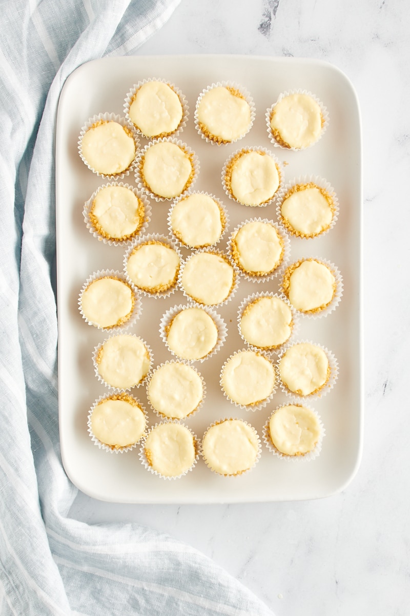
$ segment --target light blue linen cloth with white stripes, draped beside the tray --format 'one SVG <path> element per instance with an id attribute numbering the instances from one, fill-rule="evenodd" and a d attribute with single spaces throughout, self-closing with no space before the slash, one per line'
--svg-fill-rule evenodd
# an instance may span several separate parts
<path id="1" fill-rule="evenodd" d="M 53 140 L 79 65 L 132 54 L 179 0 L 0 2 L 0 614 L 267 616 L 224 570 L 136 524 L 69 519 L 57 410 Z"/>

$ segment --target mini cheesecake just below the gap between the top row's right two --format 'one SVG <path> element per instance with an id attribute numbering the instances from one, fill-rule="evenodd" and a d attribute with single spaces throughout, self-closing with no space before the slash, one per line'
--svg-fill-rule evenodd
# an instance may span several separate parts
<path id="1" fill-rule="evenodd" d="M 243 149 L 236 152 L 224 168 L 227 194 L 242 205 L 266 205 L 280 185 L 280 168 L 266 150 Z"/>

